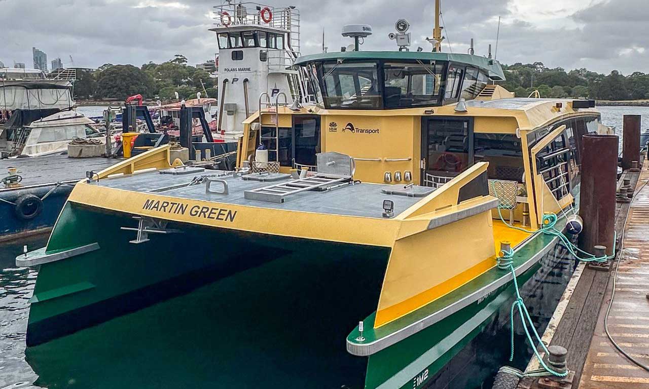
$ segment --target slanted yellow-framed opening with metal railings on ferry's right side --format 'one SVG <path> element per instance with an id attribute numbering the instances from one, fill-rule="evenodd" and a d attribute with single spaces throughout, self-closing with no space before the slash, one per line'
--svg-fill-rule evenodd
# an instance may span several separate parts
<path id="1" fill-rule="evenodd" d="M 530 150 L 535 209 L 539 225 L 544 212 L 559 213 L 574 200 L 570 193 L 572 152 L 565 130 L 565 125 L 559 126 Z"/>

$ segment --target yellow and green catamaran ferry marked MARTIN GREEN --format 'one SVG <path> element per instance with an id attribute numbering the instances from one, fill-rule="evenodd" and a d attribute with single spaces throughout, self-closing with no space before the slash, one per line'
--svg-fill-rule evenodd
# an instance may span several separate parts
<path id="1" fill-rule="evenodd" d="M 439 51 L 439 27 L 432 52 L 358 51 L 369 31 L 295 60 L 317 101 L 245 119 L 237 171 L 164 146 L 77 183 L 16 259 L 40 265 L 28 345 L 212 282 L 223 387 L 447 387 L 513 274 L 523 288 L 561 250 L 532 232 L 546 213 L 563 230 L 582 136 L 610 130 L 593 101 L 513 97 L 490 55 Z"/>

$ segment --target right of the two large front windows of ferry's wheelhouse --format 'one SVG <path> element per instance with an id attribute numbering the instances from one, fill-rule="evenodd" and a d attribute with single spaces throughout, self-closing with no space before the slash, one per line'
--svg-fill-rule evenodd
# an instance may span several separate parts
<path id="1" fill-rule="evenodd" d="M 387 62 L 383 65 L 386 108 L 437 105 L 442 71 L 443 65 Z"/>

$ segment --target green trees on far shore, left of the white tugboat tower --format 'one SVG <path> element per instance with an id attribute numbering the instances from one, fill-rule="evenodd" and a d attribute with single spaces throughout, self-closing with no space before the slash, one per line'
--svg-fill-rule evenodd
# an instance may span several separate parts
<path id="1" fill-rule="evenodd" d="M 141 67 L 104 64 L 97 71 L 80 71 L 75 82 L 76 99 L 125 100 L 141 94 L 145 99 L 171 100 L 175 93 L 180 99 L 217 97 L 215 78 L 202 69 L 187 64 L 187 58 L 176 54 L 173 59 Z"/>

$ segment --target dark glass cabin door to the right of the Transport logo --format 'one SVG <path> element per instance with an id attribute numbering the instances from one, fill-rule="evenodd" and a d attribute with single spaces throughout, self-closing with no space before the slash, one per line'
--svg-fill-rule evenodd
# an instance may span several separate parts
<path id="1" fill-rule="evenodd" d="M 441 187 L 473 165 L 473 119 L 424 118 L 421 185 Z"/>

